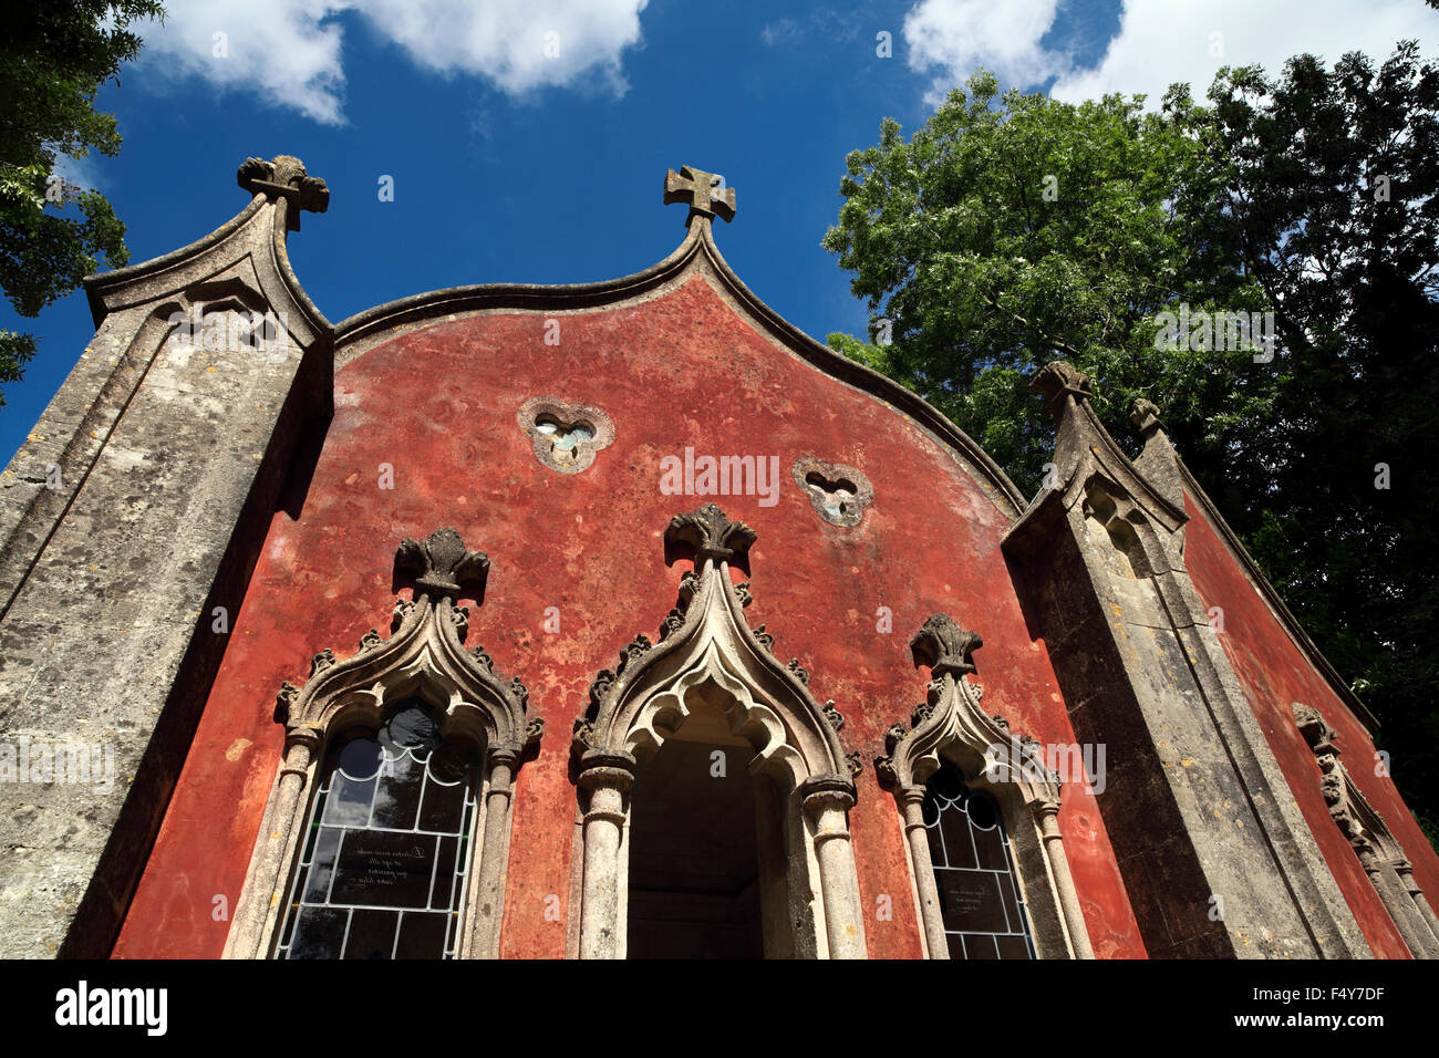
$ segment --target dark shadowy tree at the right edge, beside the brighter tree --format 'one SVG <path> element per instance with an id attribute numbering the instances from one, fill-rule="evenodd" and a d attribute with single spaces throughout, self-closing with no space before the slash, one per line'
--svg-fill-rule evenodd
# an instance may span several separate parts
<path id="1" fill-rule="evenodd" d="M 1282 334 L 1275 488 L 1226 517 L 1384 724 L 1394 782 L 1439 835 L 1439 71 L 1309 55 L 1209 92 L 1232 176 L 1216 239 Z M 1368 761 L 1351 763 L 1351 767 Z"/>

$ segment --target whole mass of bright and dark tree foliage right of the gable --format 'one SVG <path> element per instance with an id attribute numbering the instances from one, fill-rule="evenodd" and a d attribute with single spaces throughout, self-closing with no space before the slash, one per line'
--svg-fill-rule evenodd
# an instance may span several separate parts
<path id="1" fill-rule="evenodd" d="M 886 119 L 848 157 L 825 236 L 868 301 L 846 356 L 914 389 L 1026 491 L 1052 425 L 1027 392 L 1063 357 L 1101 417 L 1154 400 L 1190 469 L 1301 623 L 1404 743 L 1394 779 L 1439 787 L 1433 407 L 1439 135 L 1432 66 L 1297 56 L 1079 105 L 955 89 L 908 141 Z M 1160 314 L 1272 312 L 1278 350 Z M 1389 488 L 1376 488 L 1377 464 Z M 1429 646 L 1429 649 L 1426 649 Z M 1432 832 L 1432 831 L 1430 831 Z"/>

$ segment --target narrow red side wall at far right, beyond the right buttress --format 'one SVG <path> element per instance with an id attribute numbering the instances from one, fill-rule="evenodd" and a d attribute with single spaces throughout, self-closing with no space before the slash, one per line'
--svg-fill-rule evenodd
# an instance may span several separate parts
<path id="1" fill-rule="evenodd" d="M 1426 894 L 1439 894 L 1439 858 L 1400 799 L 1393 779 L 1374 773 L 1374 741 L 1364 725 L 1289 638 L 1240 563 L 1215 533 L 1203 508 L 1189 497 L 1184 507 L 1190 517 L 1184 530 L 1184 564 L 1204 606 L 1219 606 L 1225 612 L 1225 632 L 1219 639 L 1253 705 L 1269 749 L 1374 954 L 1404 959 L 1409 951 L 1389 911 L 1360 867 L 1358 856 L 1330 818 L 1320 792 L 1320 766 L 1294 723 L 1291 702 L 1312 705 L 1338 731 L 1334 743 L 1340 747 L 1340 759 L 1404 848 L 1415 865 L 1415 880 Z M 1403 766 L 1402 756 L 1392 761 L 1394 769 Z"/>

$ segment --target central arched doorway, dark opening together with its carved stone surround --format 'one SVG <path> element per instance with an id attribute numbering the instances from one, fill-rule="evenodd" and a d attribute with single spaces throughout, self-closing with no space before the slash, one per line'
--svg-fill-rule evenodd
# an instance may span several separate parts
<path id="1" fill-rule="evenodd" d="M 714 504 L 672 518 L 666 543 L 694 547 L 696 571 L 681 579 L 661 643 L 636 636 L 590 688 L 573 743 L 581 959 L 623 959 L 630 937 L 636 956 L 865 956 L 848 825 L 859 764 L 833 702 L 820 705 L 809 672 L 776 661 L 773 636 L 743 616 L 748 583 L 731 580 L 728 560 L 753 540 Z M 709 802 L 715 753 L 734 786 Z M 722 924 L 695 917 L 721 897 Z M 684 926 L 661 936 L 666 921 Z"/>

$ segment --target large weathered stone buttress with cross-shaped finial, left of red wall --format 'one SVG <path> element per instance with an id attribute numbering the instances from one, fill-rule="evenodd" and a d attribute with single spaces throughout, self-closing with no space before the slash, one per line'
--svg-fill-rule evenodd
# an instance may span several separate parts
<path id="1" fill-rule="evenodd" d="M 216 616 L 233 628 L 331 413 L 332 328 L 285 250 L 328 191 L 283 155 L 239 180 L 229 223 L 85 279 L 95 340 L 4 471 L 6 728 L 63 743 L 104 704 L 131 782 L 0 783 L 0 957 L 109 954 L 224 654 Z"/>

